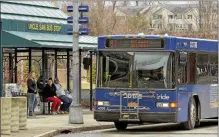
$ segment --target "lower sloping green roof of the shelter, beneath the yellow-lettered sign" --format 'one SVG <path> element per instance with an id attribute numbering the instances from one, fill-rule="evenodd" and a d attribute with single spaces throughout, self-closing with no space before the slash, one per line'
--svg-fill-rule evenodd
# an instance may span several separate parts
<path id="1" fill-rule="evenodd" d="M 18 48 L 72 48 L 72 36 L 61 34 L 47 34 L 47 33 L 32 33 L 19 31 L 3 31 L 2 46 L 18 47 Z M 7 37 L 13 37 L 10 41 L 5 40 Z M 36 47 L 37 46 L 37 47 Z M 97 46 L 97 38 L 91 36 L 80 36 L 79 46 L 82 49 L 95 48 Z"/>

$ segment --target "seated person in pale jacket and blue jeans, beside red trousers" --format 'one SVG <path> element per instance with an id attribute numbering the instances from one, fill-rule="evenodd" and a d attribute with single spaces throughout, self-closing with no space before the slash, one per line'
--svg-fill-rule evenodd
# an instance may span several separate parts
<path id="1" fill-rule="evenodd" d="M 59 83 L 58 78 L 55 79 L 54 83 L 56 86 L 56 94 L 59 97 L 59 99 L 63 102 L 60 110 L 64 113 L 68 113 L 72 99 L 66 96 L 65 90 L 62 88 L 61 84 Z"/>

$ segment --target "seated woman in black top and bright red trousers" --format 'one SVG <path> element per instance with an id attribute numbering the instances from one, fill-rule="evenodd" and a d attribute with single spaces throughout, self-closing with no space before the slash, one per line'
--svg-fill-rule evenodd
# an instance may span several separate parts
<path id="1" fill-rule="evenodd" d="M 56 87 L 53 84 L 52 78 L 48 79 L 48 82 L 43 89 L 43 98 L 45 101 L 51 101 L 52 103 L 52 114 L 56 115 L 59 112 L 61 100 L 56 95 Z"/>

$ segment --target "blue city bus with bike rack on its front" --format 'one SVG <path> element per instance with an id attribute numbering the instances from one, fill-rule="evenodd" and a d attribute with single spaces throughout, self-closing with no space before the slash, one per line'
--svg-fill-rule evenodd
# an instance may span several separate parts
<path id="1" fill-rule="evenodd" d="M 94 119 L 128 124 L 217 118 L 218 41 L 159 35 L 98 38 Z"/>

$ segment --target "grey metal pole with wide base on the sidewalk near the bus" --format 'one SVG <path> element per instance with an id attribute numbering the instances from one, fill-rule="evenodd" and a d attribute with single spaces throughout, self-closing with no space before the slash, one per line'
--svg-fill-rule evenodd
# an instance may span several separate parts
<path id="1" fill-rule="evenodd" d="M 79 1 L 73 0 L 73 45 L 72 45 L 72 73 L 73 73 L 73 97 L 69 109 L 69 123 L 83 124 L 83 113 L 79 100 L 80 82 L 79 82 Z"/>

